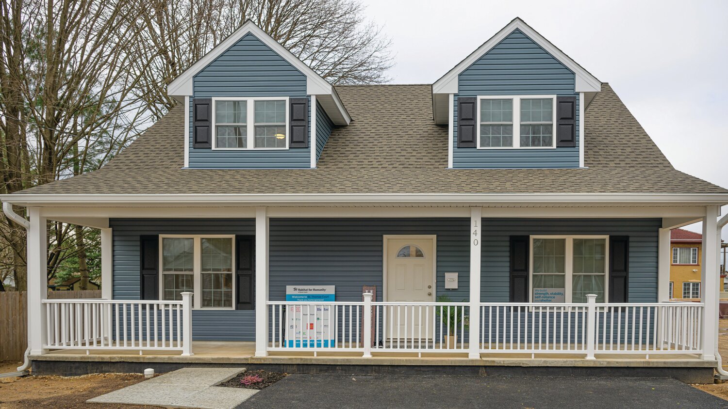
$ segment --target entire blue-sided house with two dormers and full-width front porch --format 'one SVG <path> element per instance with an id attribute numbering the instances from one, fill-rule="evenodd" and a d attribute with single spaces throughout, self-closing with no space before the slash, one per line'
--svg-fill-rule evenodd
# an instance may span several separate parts
<path id="1" fill-rule="evenodd" d="M 102 169 L 1 197 L 30 214 L 4 207 L 28 228 L 34 371 L 712 378 L 717 289 L 666 302 L 661 260 L 702 220 L 717 280 L 728 190 L 673 169 L 522 20 L 432 85 L 351 86 L 248 22 L 168 92 L 178 106 Z M 46 299 L 47 220 L 101 229 L 103 301 Z"/>

